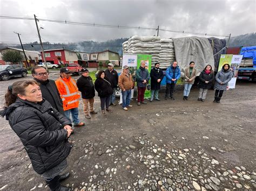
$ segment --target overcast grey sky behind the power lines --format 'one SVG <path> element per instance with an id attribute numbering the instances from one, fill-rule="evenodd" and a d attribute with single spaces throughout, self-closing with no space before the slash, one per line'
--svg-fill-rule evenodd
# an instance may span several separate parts
<path id="1" fill-rule="evenodd" d="M 123 26 L 159 27 L 185 32 L 238 36 L 256 31 L 256 0 L 196 1 L 85 1 L 85 0 L 0 0 L 0 16 L 60 19 L 72 22 Z M 153 36 L 155 30 L 113 29 L 40 21 L 43 41 L 68 43 L 103 41 L 134 35 Z M 35 20 L 0 18 L 0 43 L 39 41 Z M 192 36 L 159 31 L 161 38 Z M 208 36 L 207 36 L 208 37 Z M 218 37 L 225 38 L 225 37 Z"/>

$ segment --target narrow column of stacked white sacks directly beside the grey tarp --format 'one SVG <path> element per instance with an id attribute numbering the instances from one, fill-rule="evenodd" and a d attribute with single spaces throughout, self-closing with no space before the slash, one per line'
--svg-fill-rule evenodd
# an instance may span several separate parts
<path id="1" fill-rule="evenodd" d="M 160 67 L 166 69 L 175 60 L 174 45 L 172 39 L 161 39 L 161 50 L 159 53 Z"/>

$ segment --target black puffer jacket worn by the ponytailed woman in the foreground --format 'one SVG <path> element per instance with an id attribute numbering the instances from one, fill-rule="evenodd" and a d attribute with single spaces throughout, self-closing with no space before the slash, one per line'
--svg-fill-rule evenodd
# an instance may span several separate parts
<path id="1" fill-rule="evenodd" d="M 6 116 L 12 130 L 21 139 L 38 174 L 43 174 L 68 157 L 72 146 L 66 139 L 68 132 L 63 126 L 71 125 L 70 121 L 52 108 L 48 101 L 36 104 L 17 99 L 1 115 Z"/>

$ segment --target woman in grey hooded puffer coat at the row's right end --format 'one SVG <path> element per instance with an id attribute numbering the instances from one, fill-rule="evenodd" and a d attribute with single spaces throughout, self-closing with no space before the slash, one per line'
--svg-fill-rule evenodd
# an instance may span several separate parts
<path id="1" fill-rule="evenodd" d="M 230 65 L 228 65 L 228 63 L 223 65 L 222 69 L 219 70 L 219 72 L 215 76 L 215 96 L 213 102 L 220 103 L 220 99 L 223 96 L 223 92 L 227 90 L 227 83 L 232 79 L 232 75 L 233 74 L 230 70 Z"/>

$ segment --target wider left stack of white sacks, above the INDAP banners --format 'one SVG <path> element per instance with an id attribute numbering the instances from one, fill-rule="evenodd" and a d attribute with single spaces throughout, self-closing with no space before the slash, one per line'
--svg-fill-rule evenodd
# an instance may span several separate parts
<path id="1" fill-rule="evenodd" d="M 126 46 L 127 45 L 127 46 Z M 151 54 L 151 63 L 159 61 L 159 53 L 161 50 L 160 37 L 133 36 L 123 43 L 123 53 L 127 54 Z"/>

